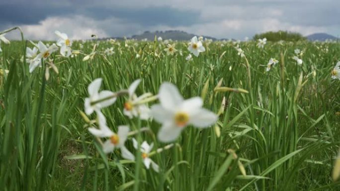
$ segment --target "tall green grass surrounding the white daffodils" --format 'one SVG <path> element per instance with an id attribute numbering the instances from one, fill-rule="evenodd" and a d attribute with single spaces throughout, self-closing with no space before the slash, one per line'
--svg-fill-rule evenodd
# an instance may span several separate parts
<path id="1" fill-rule="evenodd" d="M 0 67 L 9 73 L 3 74 L 0 86 L 0 190 L 339 189 L 330 177 L 339 144 L 335 114 L 340 111 L 339 81 L 331 80 L 330 71 L 340 57 L 339 43 L 267 43 L 262 50 L 249 41 L 240 44 L 246 53 L 241 58 L 232 43 L 206 42 L 205 53 L 186 61 L 183 42 L 176 43 L 183 56 L 167 56 L 166 45 L 156 41 L 128 41 L 128 47 L 124 42 L 98 41 L 97 51 L 114 46 L 115 54 L 98 54 L 86 62 L 82 55 L 55 54 L 59 74 L 51 73 L 49 80 L 44 64 L 30 74 L 28 65 L 20 61 L 23 43 L 27 46 L 26 42 L 1 44 Z M 89 54 L 94 43 L 74 42 L 72 48 Z M 292 59 L 295 48 L 305 52 L 302 66 Z M 264 72 L 270 58 L 279 64 Z M 174 146 L 153 155 L 160 165 L 156 173 L 145 169 L 141 157 L 136 162 L 123 160 L 119 151 L 106 156 L 84 127 L 79 111 L 84 110 L 87 85 L 97 77 L 103 78 L 102 89 L 112 91 L 126 89 L 141 78 L 139 95 L 157 94 L 162 82 L 170 81 L 184 98 L 202 96 L 204 107 L 215 113 L 224 97 L 226 104 L 216 127 L 187 127 Z M 214 91 L 221 79 L 221 86 L 249 93 Z M 103 110 L 108 126 L 114 131 L 119 125 L 132 130 L 149 127 L 151 131 L 134 137 L 154 142 L 155 148 L 166 146 L 155 136 L 160 125 L 125 117 L 124 102 L 120 97 Z M 127 147 L 134 151 L 130 139 Z"/>

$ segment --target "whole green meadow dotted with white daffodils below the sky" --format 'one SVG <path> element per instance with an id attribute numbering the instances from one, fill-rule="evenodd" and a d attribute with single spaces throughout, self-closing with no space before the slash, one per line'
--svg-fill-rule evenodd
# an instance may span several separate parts
<path id="1" fill-rule="evenodd" d="M 339 42 L 15 29 L 0 33 L 0 191 L 340 190 Z"/>

